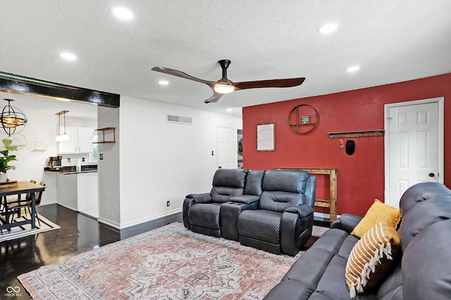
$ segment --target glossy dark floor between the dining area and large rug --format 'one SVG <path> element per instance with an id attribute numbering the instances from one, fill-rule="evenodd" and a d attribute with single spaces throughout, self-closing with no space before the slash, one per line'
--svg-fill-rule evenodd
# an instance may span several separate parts
<path id="1" fill-rule="evenodd" d="M 20 274 L 166 225 L 161 222 L 153 223 L 150 226 L 138 226 L 121 233 L 119 230 L 58 204 L 37 207 L 37 211 L 61 228 L 0 242 L 0 299 L 30 299 L 17 280 Z M 181 214 L 171 221 L 183 222 Z M 315 222 L 315 224 L 325 226 L 323 222 Z M 20 287 L 19 296 L 6 295 L 8 287 Z"/>

